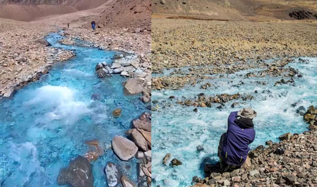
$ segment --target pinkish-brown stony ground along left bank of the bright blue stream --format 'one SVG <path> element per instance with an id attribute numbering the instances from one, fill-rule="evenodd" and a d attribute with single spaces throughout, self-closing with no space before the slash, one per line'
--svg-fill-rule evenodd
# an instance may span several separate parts
<path id="1" fill-rule="evenodd" d="M 55 62 L 73 57 L 71 50 L 55 49 L 43 39 L 54 27 L 0 20 L 0 97 L 39 80 Z"/>

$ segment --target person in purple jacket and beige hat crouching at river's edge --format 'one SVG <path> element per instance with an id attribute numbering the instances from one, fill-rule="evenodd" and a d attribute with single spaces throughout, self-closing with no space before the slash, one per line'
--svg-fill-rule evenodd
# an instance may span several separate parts
<path id="1" fill-rule="evenodd" d="M 220 168 L 225 172 L 239 168 L 249 153 L 249 144 L 255 138 L 253 118 L 256 112 L 252 108 L 244 108 L 231 112 L 228 118 L 228 130 L 220 137 L 218 157 Z"/>

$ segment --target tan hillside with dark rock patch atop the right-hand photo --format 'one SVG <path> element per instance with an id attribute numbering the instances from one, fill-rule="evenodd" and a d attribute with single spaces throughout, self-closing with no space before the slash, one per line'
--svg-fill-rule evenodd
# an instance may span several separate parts
<path id="1" fill-rule="evenodd" d="M 153 0 L 154 17 L 245 19 L 317 19 L 316 0 Z"/>

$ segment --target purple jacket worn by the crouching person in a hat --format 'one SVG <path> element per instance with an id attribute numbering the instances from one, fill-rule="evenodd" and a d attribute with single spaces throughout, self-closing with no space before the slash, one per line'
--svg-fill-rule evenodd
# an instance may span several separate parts
<path id="1" fill-rule="evenodd" d="M 255 138 L 253 125 L 247 126 L 237 121 L 238 112 L 231 112 L 228 118 L 227 136 L 224 139 L 221 156 L 227 164 L 239 166 L 249 153 L 249 144 Z"/>

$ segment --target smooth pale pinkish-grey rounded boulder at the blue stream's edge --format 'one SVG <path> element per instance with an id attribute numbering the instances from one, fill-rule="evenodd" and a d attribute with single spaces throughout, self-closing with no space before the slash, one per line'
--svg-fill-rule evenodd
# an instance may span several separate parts
<path id="1" fill-rule="evenodd" d="M 138 147 L 132 141 L 119 135 L 112 139 L 112 148 L 116 155 L 123 161 L 131 159 L 138 151 Z"/>

